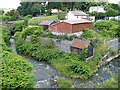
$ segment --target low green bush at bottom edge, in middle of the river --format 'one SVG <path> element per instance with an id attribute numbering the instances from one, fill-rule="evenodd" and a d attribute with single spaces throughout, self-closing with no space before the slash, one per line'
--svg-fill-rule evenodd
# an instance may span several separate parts
<path id="1" fill-rule="evenodd" d="M 72 88 L 72 83 L 70 80 L 65 80 L 63 78 L 57 79 L 58 88 Z"/>

